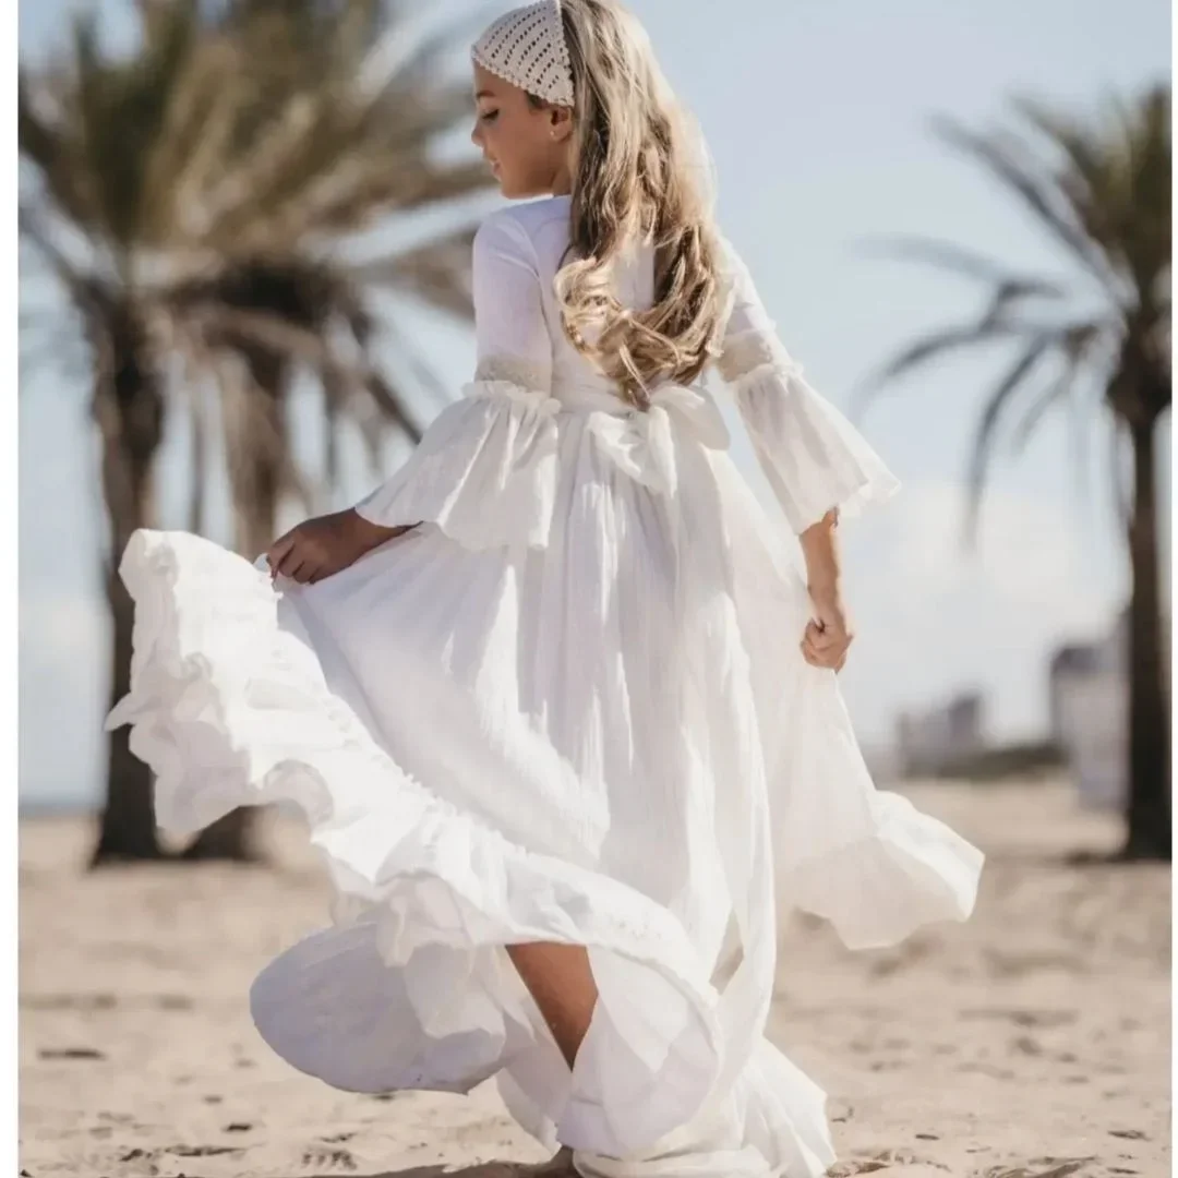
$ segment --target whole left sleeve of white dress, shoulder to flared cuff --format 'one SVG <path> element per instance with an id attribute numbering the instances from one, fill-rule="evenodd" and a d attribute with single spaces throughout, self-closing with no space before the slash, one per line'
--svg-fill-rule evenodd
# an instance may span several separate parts
<path id="1" fill-rule="evenodd" d="M 388 528 L 431 523 L 469 548 L 543 547 L 556 485 L 552 345 L 536 253 L 510 211 L 474 245 L 477 368 L 392 477 L 356 510 Z"/>

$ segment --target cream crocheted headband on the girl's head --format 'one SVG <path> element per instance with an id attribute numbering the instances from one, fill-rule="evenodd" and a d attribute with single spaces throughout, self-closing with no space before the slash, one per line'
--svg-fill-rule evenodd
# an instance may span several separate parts
<path id="1" fill-rule="evenodd" d="M 573 67 L 561 0 L 512 8 L 483 33 L 470 54 L 496 78 L 545 101 L 573 106 Z"/>

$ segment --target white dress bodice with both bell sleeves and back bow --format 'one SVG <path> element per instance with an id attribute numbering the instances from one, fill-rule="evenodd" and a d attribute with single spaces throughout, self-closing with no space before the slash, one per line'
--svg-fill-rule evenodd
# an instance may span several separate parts
<path id="1" fill-rule="evenodd" d="M 475 236 L 478 366 L 412 458 L 357 510 L 377 523 L 434 519 L 469 544 L 544 545 L 565 418 L 584 415 L 598 451 L 635 482 L 674 496 L 681 446 L 724 450 L 728 431 L 704 382 L 663 382 L 636 409 L 565 336 L 554 289 L 569 246 L 569 197 L 509 205 Z M 714 365 L 795 532 L 830 508 L 843 514 L 898 487 L 849 422 L 802 379 L 748 270 L 721 238 L 723 323 Z M 654 302 L 654 250 L 618 258 L 623 306 Z M 707 377 L 713 365 L 704 370 Z M 691 463 L 688 463 L 691 465 Z M 697 468 L 697 464 L 696 469 Z"/>

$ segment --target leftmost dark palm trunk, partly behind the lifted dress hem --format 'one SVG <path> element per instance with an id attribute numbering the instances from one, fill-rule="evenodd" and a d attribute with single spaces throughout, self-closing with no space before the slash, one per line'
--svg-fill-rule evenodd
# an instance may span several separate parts
<path id="1" fill-rule="evenodd" d="M 111 706 L 131 687 L 134 603 L 118 565 L 132 532 L 154 522 L 152 474 L 163 437 L 164 403 L 134 307 L 104 304 L 90 323 L 95 356 L 92 411 L 102 441 L 102 497 L 111 529 L 106 600 L 111 609 Z M 107 742 L 106 805 L 91 866 L 159 859 L 152 776 L 131 752 L 130 729 Z"/>

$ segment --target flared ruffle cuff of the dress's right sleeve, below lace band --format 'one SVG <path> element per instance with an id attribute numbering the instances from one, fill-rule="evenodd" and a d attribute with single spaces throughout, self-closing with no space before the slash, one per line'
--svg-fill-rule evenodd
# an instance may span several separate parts
<path id="1" fill-rule="evenodd" d="M 795 534 L 832 508 L 841 518 L 885 503 L 899 479 L 861 434 L 780 358 L 735 378 L 733 392 L 757 462 Z"/>

